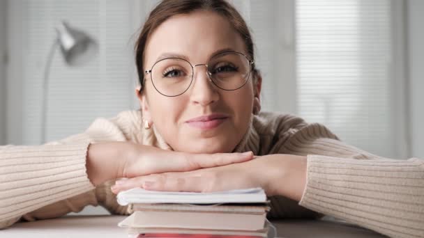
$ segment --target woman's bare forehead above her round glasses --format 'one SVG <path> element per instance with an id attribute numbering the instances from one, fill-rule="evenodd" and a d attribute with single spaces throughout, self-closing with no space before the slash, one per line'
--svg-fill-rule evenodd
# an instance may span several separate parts
<path id="1" fill-rule="evenodd" d="M 192 63 L 206 63 L 221 49 L 246 54 L 240 34 L 225 17 L 196 11 L 176 15 L 160 24 L 146 44 L 144 63 L 149 67 L 165 54 L 179 54 Z"/>

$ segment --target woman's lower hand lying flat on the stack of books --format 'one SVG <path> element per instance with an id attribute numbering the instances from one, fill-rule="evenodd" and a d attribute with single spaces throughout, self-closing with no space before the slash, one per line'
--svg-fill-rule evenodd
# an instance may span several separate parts
<path id="1" fill-rule="evenodd" d="M 306 157 L 270 154 L 238 164 L 119 180 L 112 191 L 142 187 L 154 191 L 211 192 L 262 187 L 268 196 L 300 200 L 306 182 Z"/>

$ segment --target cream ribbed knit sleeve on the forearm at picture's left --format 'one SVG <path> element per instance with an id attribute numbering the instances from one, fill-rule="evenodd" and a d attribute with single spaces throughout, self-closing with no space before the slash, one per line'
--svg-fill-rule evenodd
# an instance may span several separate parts
<path id="1" fill-rule="evenodd" d="M 0 228 L 40 207 L 93 189 L 85 168 L 89 143 L 88 136 L 79 134 L 54 145 L 1 146 Z"/>

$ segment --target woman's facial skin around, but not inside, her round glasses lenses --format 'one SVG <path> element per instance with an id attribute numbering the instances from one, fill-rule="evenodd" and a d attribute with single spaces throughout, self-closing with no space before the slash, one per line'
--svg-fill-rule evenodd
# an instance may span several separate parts
<path id="1" fill-rule="evenodd" d="M 176 15 L 150 35 L 144 69 L 151 69 L 165 55 L 184 56 L 192 65 L 206 64 L 222 49 L 248 55 L 241 36 L 224 17 L 207 11 Z M 232 152 L 248 130 L 259 89 L 260 81 L 254 86 L 250 73 L 243 87 L 222 90 L 209 80 L 206 67 L 197 66 L 185 93 L 177 97 L 161 95 L 148 75 L 139 99 L 143 118 L 158 129 L 174 150 Z"/>

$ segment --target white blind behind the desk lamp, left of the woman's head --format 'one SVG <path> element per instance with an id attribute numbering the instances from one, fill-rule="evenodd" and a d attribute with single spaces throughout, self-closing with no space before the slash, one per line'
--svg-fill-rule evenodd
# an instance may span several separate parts
<path id="1" fill-rule="evenodd" d="M 82 132 L 96 117 L 111 117 L 133 106 L 132 1 L 9 3 L 22 11 L 22 35 L 11 36 L 22 38 L 22 105 L 16 105 L 22 106 L 22 144 L 42 143 L 43 72 L 56 38 L 54 27 L 61 20 L 96 39 L 98 55 L 71 67 L 56 49 L 49 78 L 47 141 Z"/>

